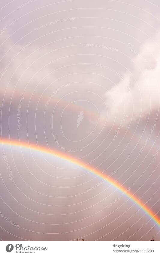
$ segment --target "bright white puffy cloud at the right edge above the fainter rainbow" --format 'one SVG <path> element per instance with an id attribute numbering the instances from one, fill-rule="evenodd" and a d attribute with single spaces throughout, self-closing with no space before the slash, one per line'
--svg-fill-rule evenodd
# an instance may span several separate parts
<path id="1" fill-rule="evenodd" d="M 128 48 L 135 54 L 132 59 L 131 71 L 105 93 L 108 108 L 108 121 L 119 122 L 125 114 L 127 121 L 138 121 L 159 107 L 159 38 L 146 41 L 140 51 L 134 50 L 134 45 L 128 43 Z M 127 67 L 126 67 L 127 68 Z"/>

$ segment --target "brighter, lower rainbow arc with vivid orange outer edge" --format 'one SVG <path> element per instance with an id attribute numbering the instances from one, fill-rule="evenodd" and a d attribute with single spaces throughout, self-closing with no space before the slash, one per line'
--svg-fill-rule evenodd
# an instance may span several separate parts
<path id="1" fill-rule="evenodd" d="M 0 140 L 0 145 L 3 146 L 12 146 L 12 147 L 21 147 L 24 149 L 31 149 L 31 150 L 35 150 L 38 152 L 43 152 L 52 156 L 56 156 L 60 159 L 66 160 L 70 163 L 74 163 L 80 167 L 85 168 L 87 171 L 94 173 L 95 175 L 101 177 L 101 179 L 103 179 L 104 181 L 108 182 L 110 185 L 114 186 L 116 189 L 118 189 L 119 191 L 121 191 L 122 193 L 124 193 L 129 199 L 131 199 L 134 204 L 136 204 L 138 207 L 140 207 L 140 209 L 142 209 L 145 214 L 147 214 L 149 216 L 150 219 L 152 219 L 159 227 L 160 227 L 160 219 L 159 217 L 152 211 L 150 210 L 146 204 L 144 204 L 139 198 L 137 198 L 134 194 L 132 194 L 130 191 L 128 191 L 124 186 L 122 186 L 119 182 L 117 182 L 116 180 L 114 180 L 111 177 L 108 177 L 106 174 L 101 173 L 100 170 L 92 168 L 92 166 L 89 166 L 88 164 L 83 163 L 82 161 L 77 161 L 74 160 L 73 158 L 67 156 L 64 153 L 60 153 L 56 150 L 50 150 L 44 146 L 39 146 L 39 145 L 35 145 L 35 144 L 30 144 L 30 143 L 26 143 L 26 142 L 21 142 L 21 141 L 16 141 L 16 140 L 8 140 L 8 139 L 1 139 Z"/>

